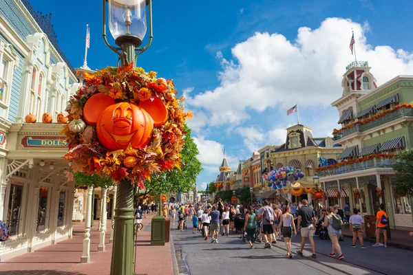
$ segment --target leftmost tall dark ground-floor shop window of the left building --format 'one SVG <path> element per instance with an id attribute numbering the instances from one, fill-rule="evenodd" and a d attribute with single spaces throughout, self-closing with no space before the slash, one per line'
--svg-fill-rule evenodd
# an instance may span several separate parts
<path id="1" fill-rule="evenodd" d="M 19 231 L 23 226 L 21 225 L 21 202 L 23 195 L 23 186 L 17 184 L 10 185 L 10 196 L 7 209 L 7 221 L 6 226 L 9 230 L 10 236 L 19 234 Z"/>

